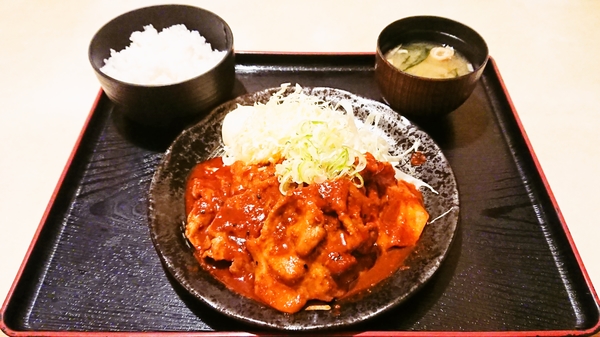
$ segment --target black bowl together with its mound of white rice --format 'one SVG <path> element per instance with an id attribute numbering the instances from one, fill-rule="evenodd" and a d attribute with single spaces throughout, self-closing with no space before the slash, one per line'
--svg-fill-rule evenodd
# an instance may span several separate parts
<path id="1" fill-rule="evenodd" d="M 104 25 L 89 59 L 116 111 L 142 126 L 183 128 L 231 98 L 233 34 L 207 10 L 160 5 Z"/>

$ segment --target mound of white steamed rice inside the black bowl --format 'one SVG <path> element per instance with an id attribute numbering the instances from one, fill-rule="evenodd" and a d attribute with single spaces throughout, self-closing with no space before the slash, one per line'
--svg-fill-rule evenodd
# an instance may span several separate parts
<path id="1" fill-rule="evenodd" d="M 152 25 L 136 31 L 131 44 L 117 52 L 110 50 L 100 70 L 123 82 L 142 85 L 166 85 L 199 76 L 225 57 L 225 51 L 213 50 L 210 43 L 185 25 L 173 25 L 158 32 Z"/>

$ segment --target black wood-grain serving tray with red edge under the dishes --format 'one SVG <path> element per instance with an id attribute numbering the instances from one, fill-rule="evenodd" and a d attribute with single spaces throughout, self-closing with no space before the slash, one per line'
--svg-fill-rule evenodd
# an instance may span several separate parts
<path id="1" fill-rule="evenodd" d="M 234 96 L 290 82 L 381 101 L 372 54 L 238 54 L 236 61 Z M 161 266 L 147 196 L 175 134 L 119 116 L 102 94 L 5 303 L 5 332 L 265 332 L 193 299 Z M 597 331 L 596 294 L 493 60 L 463 106 L 420 127 L 458 182 L 455 241 L 407 302 L 339 332 Z"/>

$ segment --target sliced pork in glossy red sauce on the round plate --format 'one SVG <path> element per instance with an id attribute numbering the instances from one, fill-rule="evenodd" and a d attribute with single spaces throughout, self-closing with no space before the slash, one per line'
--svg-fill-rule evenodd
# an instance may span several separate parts
<path id="1" fill-rule="evenodd" d="M 279 311 L 329 302 L 392 274 L 427 223 L 421 193 L 367 154 L 364 184 L 341 178 L 283 195 L 275 167 L 221 158 L 188 178 L 185 234 L 229 289 Z"/>

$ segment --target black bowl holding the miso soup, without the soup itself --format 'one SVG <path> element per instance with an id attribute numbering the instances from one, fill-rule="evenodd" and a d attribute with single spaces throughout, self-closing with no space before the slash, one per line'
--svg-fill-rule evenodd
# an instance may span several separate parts
<path id="1" fill-rule="evenodd" d="M 401 71 L 386 60 L 388 51 L 411 42 L 451 46 L 465 56 L 473 71 L 450 79 L 426 78 Z M 375 78 L 383 100 L 409 119 L 427 121 L 449 114 L 469 98 L 489 55 L 484 39 L 464 24 L 435 16 L 413 16 L 381 31 L 375 58 Z"/>

